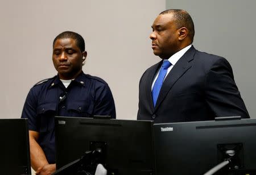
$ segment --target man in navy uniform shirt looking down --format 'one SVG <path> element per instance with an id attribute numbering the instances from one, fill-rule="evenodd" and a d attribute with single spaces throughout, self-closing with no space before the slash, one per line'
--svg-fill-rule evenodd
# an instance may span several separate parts
<path id="1" fill-rule="evenodd" d="M 79 34 L 67 31 L 56 36 L 52 61 L 57 76 L 36 84 L 27 95 L 22 118 L 28 118 L 31 166 L 37 174 L 51 174 L 56 169 L 54 116 L 115 118 L 108 84 L 82 72 L 86 55 Z"/>

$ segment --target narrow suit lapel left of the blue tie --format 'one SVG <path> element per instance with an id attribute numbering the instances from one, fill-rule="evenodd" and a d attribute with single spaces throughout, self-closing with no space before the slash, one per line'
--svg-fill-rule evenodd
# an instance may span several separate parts
<path id="1" fill-rule="evenodd" d="M 154 111 L 154 104 L 153 104 L 153 99 L 152 99 L 152 92 L 151 92 L 151 85 L 154 80 L 155 74 L 158 71 L 159 67 L 162 65 L 163 61 L 158 62 L 157 64 L 153 65 L 147 74 L 146 77 L 146 94 L 147 94 L 147 102 L 150 105 L 151 111 Z"/>

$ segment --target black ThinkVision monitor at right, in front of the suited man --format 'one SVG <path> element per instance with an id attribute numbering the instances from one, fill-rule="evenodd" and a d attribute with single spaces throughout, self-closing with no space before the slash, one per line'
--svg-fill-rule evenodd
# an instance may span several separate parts
<path id="1" fill-rule="evenodd" d="M 256 174 L 256 119 L 154 124 L 154 135 L 158 175 L 204 174 L 229 159 L 216 174 Z"/>

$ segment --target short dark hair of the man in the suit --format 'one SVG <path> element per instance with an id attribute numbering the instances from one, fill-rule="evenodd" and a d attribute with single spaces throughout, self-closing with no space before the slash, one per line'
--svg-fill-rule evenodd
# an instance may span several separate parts
<path id="1" fill-rule="evenodd" d="M 188 14 L 188 12 L 180 9 L 168 9 L 160 12 L 159 15 L 170 14 L 170 13 L 174 14 L 174 19 L 176 20 L 177 28 L 185 27 L 189 30 L 188 35 L 190 36 L 193 42 L 194 35 L 195 35 L 195 27 L 194 27 L 193 20 L 191 16 Z"/>

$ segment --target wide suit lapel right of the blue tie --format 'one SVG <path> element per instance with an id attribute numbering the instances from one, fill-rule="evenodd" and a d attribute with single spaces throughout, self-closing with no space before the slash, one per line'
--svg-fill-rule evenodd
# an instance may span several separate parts
<path id="1" fill-rule="evenodd" d="M 188 51 L 179 59 L 179 61 L 176 62 L 174 67 L 171 69 L 161 87 L 158 101 L 156 101 L 155 110 L 158 109 L 163 99 L 166 97 L 168 91 L 171 90 L 175 82 L 179 80 L 179 78 L 183 76 L 183 74 L 187 72 L 189 68 L 191 68 L 190 61 L 193 60 L 195 53 L 196 49 L 192 45 L 192 47 L 188 49 Z"/>

